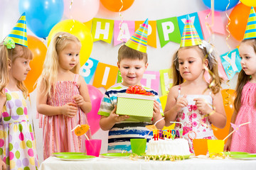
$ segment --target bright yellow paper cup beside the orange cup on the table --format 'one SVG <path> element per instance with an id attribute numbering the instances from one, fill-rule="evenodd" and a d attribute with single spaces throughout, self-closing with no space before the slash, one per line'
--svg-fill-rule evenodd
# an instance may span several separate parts
<path id="1" fill-rule="evenodd" d="M 210 157 L 213 157 L 214 155 L 223 155 L 224 150 L 224 140 L 208 140 L 208 152 Z"/>

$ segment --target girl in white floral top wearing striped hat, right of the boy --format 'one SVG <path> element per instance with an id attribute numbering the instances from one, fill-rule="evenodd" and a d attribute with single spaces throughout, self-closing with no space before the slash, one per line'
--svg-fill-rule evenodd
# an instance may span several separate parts
<path id="1" fill-rule="evenodd" d="M 210 85 L 203 77 L 206 69 L 212 72 Z M 188 139 L 193 152 L 192 140 L 215 139 L 210 125 L 224 128 L 226 115 L 213 46 L 199 38 L 189 16 L 183 30 L 181 47 L 172 60 L 171 71 L 174 85 L 169 91 L 164 110 L 166 126 L 174 121 L 183 123 L 184 127 L 177 123 L 175 128 L 183 128 L 180 136 Z"/>

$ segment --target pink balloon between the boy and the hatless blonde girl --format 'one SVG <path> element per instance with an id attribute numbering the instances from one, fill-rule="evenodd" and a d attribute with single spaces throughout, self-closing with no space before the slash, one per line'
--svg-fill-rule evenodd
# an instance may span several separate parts
<path id="1" fill-rule="evenodd" d="M 100 103 L 102 101 L 103 94 L 99 89 L 90 84 L 87 84 L 87 88 L 89 91 L 90 100 L 92 102 L 92 111 L 87 113 L 87 120 L 93 135 L 95 132 L 97 132 L 97 130 L 100 129 L 100 115 L 97 113 L 100 109 Z"/>

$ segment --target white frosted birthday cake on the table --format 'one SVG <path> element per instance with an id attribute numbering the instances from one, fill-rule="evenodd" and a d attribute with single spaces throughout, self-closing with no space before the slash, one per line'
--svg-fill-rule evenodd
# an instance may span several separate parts
<path id="1" fill-rule="evenodd" d="M 178 155 L 184 156 L 189 155 L 189 146 L 188 140 L 185 139 L 167 139 L 164 140 L 150 140 L 149 143 L 146 145 L 147 151 L 146 155 Z"/>

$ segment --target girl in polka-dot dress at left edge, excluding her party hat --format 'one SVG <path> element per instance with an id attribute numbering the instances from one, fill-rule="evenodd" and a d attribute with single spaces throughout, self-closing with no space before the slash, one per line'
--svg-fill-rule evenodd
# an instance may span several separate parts
<path id="1" fill-rule="evenodd" d="M 33 129 L 28 121 L 23 84 L 31 70 L 32 52 L 12 38 L 0 44 L 0 154 L 7 169 L 37 169 L 38 156 Z"/>

